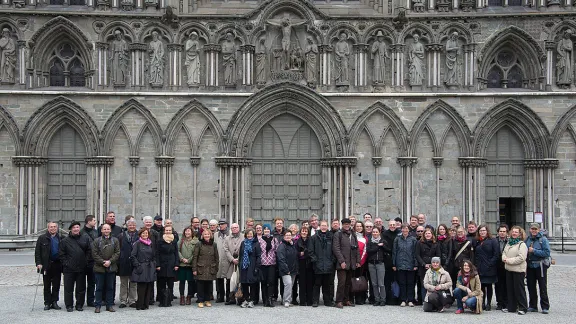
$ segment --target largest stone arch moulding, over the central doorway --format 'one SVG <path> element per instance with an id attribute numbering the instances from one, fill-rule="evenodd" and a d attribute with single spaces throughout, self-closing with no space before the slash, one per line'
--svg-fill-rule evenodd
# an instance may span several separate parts
<path id="1" fill-rule="evenodd" d="M 260 128 L 272 118 L 289 113 L 306 121 L 316 133 L 323 157 L 344 156 L 346 127 L 340 114 L 322 96 L 294 83 L 279 83 L 254 94 L 228 125 L 229 156 L 248 156 Z"/>

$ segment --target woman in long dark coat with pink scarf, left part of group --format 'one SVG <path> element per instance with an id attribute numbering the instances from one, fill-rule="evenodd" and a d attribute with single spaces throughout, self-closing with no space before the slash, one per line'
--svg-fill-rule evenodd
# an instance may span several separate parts
<path id="1" fill-rule="evenodd" d="M 150 298 L 154 292 L 154 281 L 156 281 L 156 258 L 154 245 L 150 240 L 150 232 L 147 228 L 138 231 L 138 240 L 132 247 L 130 260 L 132 261 L 130 281 L 137 283 L 136 309 L 148 309 Z"/>

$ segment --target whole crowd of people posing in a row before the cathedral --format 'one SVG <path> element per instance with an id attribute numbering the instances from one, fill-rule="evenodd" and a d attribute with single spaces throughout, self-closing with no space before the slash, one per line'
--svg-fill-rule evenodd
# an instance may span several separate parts
<path id="1" fill-rule="evenodd" d="M 119 226 L 109 212 L 96 227 L 88 215 L 84 225 L 72 222 L 65 237 L 48 223 L 35 250 L 44 310 L 61 309 L 62 274 L 69 312 L 83 311 L 85 303 L 95 313 L 102 307 L 115 312 L 116 277 L 119 308 L 136 310 L 172 306 L 176 281 L 179 304 L 196 298 L 198 308 L 213 302 L 318 307 L 322 300 L 336 308 L 421 305 L 425 312 L 455 304 L 456 314 L 480 314 L 492 310 L 495 289 L 497 310 L 524 315 L 538 306 L 543 314 L 550 309 L 550 245 L 538 223 L 530 224 L 528 235 L 502 224 L 495 236 L 473 221 L 464 227 L 458 217 L 435 229 L 423 214 L 407 224 L 391 219 L 387 228 L 368 213 L 332 221 L 312 215 L 288 228 L 281 218 L 272 224 L 248 219 L 242 232 L 225 219 L 193 217 L 180 235 L 170 219 L 146 216 L 143 223 L 138 229 L 126 216 Z"/>

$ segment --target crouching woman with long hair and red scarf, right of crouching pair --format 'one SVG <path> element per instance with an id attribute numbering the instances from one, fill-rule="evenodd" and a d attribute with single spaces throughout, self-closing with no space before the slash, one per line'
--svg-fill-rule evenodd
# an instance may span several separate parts
<path id="1" fill-rule="evenodd" d="M 458 281 L 454 289 L 454 298 L 458 309 L 456 314 L 464 313 L 464 308 L 470 309 L 476 314 L 482 313 L 480 301 L 484 293 L 480 284 L 480 276 L 474 264 L 469 260 L 462 262 L 462 270 L 458 272 Z"/>

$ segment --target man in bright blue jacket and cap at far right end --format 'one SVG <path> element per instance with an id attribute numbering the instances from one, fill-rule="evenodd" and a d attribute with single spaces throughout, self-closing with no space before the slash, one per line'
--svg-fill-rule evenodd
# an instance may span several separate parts
<path id="1" fill-rule="evenodd" d="M 538 292 L 536 291 L 536 283 L 538 283 L 542 314 L 548 314 L 550 301 L 548 300 L 547 272 L 550 267 L 550 243 L 540 232 L 540 224 L 530 224 L 530 235 L 526 239 L 526 246 L 528 246 L 526 281 L 530 296 L 528 311 L 538 312 Z"/>

